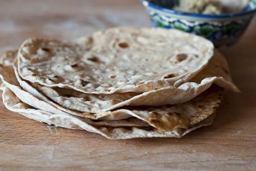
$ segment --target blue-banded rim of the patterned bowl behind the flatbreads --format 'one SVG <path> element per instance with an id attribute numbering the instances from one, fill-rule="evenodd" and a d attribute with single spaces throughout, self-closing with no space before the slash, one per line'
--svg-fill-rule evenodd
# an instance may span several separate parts
<path id="1" fill-rule="evenodd" d="M 153 4 L 152 2 L 149 2 L 148 0 L 140 0 L 144 7 L 154 8 L 158 11 L 164 12 L 164 13 L 170 13 L 170 14 L 178 14 L 181 16 L 187 16 L 187 17 L 199 17 L 199 18 L 230 18 L 230 17 L 240 17 L 247 15 L 249 13 L 255 13 L 256 12 L 256 6 L 254 9 L 251 9 L 249 11 L 244 11 L 240 13 L 225 13 L 225 14 L 200 14 L 200 13 L 189 13 L 189 12 L 181 12 L 176 11 L 173 9 L 163 8 L 161 6 L 158 6 L 156 4 Z"/>

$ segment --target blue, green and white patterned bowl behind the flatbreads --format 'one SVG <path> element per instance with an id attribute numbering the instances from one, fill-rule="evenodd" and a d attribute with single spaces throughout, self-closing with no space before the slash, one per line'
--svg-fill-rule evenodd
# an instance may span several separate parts
<path id="1" fill-rule="evenodd" d="M 141 0 L 154 27 L 176 28 L 203 36 L 216 47 L 231 45 L 246 30 L 256 12 L 256 0 L 240 13 L 199 14 L 170 9 L 172 1 Z"/>

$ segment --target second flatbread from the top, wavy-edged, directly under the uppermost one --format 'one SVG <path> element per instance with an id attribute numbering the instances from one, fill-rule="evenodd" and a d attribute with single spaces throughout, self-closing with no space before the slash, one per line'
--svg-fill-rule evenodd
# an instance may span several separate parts
<path id="1" fill-rule="evenodd" d="M 13 56 L 9 56 L 9 58 L 13 58 Z M 20 78 L 16 64 L 13 67 L 17 80 L 23 89 L 44 101 L 48 99 L 42 96 L 46 96 L 56 102 L 56 104 L 61 105 L 61 108 L 64 106 L 67 113 L 78 116 L 81 115 L 75 111 L 82 113 L 101 113 L 125 105 L 160 106 L 186 102 L 208 89 L 214 82 L 225 89 L 238 91 L 229 75 L 225 58 L 218 51 L 215 51 L 215 55 L 209 61 L 209 65 L 194 77 L 193 82 L 186 82 L 179 87 L 164 87 L 162 89 L 144 92 L 143 94 L 134 92 L 108 95 L 84 94 L 73 89 L 51 88 L 38 84 L 31 85 Z M 57 108 L 59 107 L 57 106 Z M 71 109 L 72 111 L 67 111 L 67 109 Z"/>

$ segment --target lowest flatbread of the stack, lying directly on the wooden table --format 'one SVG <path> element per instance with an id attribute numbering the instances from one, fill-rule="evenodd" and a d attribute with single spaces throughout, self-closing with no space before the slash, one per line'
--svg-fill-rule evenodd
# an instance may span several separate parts
<path id="1" fill-rule="evenodd" d="M 172 131 L 157 131 L 151 126 L 147 127 L 119 127 L 112 128 L 109 126 L 91 126 L 83 119 L 66 114 L 52 114 L 44 110 L 33 109 L 31 106 L 23 103 L 17 96 L 6 86 L 2 86 L 3 90 L 3 104 L 7 109 L 19 112 L 27 118 L 44 122 L 50 125 L 61 126 L 69 129 L 87 130 L 91 133 L 98 133 L 109 139 L 131 139 L 131 138 L 149 138 L 149 137 L 176 137 L 190 133 L 190 131 L 200 128 L 201 126 L 210 125 L 213 121 L 215 114 L 202 121 L 199 124 L 191 126 L 189 129 L 175 129 Z"/>

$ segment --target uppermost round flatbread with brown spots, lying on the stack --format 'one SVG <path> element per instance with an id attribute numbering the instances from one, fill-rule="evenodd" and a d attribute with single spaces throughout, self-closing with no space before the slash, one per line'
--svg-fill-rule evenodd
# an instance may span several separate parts
<path id="1" fill-rule="evenodd" d="M 213 48 L 177 30 L 111 28 L 76 43 L 30 38 L 18 53 L 18 72 L 32 83 L 91 94 L 146 92 L 190 80 Z"/>

